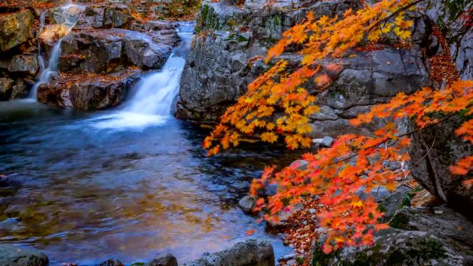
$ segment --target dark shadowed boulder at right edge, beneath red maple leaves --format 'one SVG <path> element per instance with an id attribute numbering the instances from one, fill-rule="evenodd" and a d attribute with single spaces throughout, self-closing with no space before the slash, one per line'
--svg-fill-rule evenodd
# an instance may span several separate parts
<path id="1" fill-rule="evenodd" d="M 454 209 L 473 216 L 473 189 L 463 185 L 464 176 L 452 175 L 449 166 L 473 154 L 473 145 L 455 133 L 463 120 L 451 120 L 414 133 L 409 146 L 411 174 L 432 195 L 441 198 Z M 411 130 L 416 129 L 411 126 Z M 427 155 L 426 155 L 427 154 Z"/>

